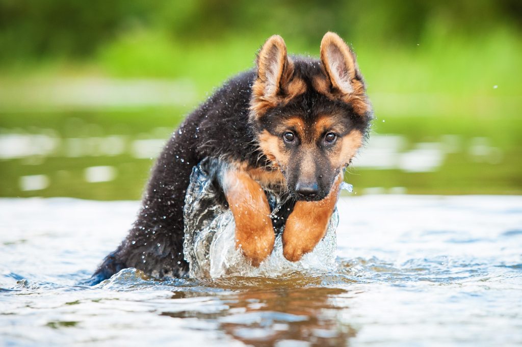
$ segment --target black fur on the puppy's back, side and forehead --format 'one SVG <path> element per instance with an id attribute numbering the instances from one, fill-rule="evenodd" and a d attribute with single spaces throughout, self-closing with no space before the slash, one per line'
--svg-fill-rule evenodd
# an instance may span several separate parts
<path id="1" fill-rule="evenodd" d="M 267 115 L 277 122 L 288 111 L 310 113 L 337 107 L 344 110 L 351 128 L 366 131 L 370 117 L 355 116 L 349 105 L 328 100 L 311 90 L 311 78 L 324 74 L 319 61 L 294 57 L 295 74 L 309 84 L 309 91 Z M 183 258 L 183 204 L 193 166 L 204 158 L 246 162 L 270 169 L 270 162 L 256 145 L 256 129 L 248 122 L 249 103 L 256 71 L 229 80 L 190 114 L 161 152 L 152 171 L 136 222 L 122 244 L 105 258 L 91 283 L 117 271 L 135 267 L 157 278 L 183 277 L 188 264 Z M 271 119 L 271 121 L 270 121 Z"/>

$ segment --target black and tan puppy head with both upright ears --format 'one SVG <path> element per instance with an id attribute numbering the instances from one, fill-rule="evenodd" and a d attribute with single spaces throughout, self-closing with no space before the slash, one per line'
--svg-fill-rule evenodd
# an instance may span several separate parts
<path id="1" fill-rule="evenodd" d="M 325 34 L 321 61 L 289 57 L 278 35 L 259 51 L 250 122 L 297 199 L 328 195 L 362 146 L 371 117 L 355 56 L 337 34 Z"/>

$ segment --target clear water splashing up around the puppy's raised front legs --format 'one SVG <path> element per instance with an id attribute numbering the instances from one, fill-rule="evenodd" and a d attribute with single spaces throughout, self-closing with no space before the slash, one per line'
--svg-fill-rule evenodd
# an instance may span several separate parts
<path id="1" fill-rule="evenodd" d="M 217 161 L 204 161 L 195 166 L 185 197 L 185 240 L 183 249 L 189 264 L 190 277 L 263 276 L 299 272 L 328 272 L 336 269 L 337 239 L 335 230 L 339 224 L 337 209 L 334 211 L 326 235 L 314 250 L 299 261 L 291 262 L 283 256 L 281 235 L 284 227 L 275 230 L 274 250 L 259 267 L 254 267 L 235 247 L 235 223 L 232 212 L 219 201 L 219 192 L 213 182 L 218 172 Z M 351 191 L 351 185 L 342 189 Z M 274 192 L 267 192 L 272 211 L 271 219 L 278 219 L 284 202 Z"/>

